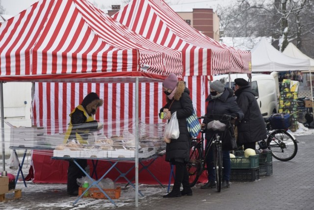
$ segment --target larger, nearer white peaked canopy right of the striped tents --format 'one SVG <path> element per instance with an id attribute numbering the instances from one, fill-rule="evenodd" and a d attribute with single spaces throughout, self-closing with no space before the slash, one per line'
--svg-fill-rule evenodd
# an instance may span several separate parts
<path id="1" fill-rule="evenodd" d="M 309 59 L 298 59 L 276 50 L 262 38 L 251 50 L 252 72 L 306 71 L 310 68 Z"/>

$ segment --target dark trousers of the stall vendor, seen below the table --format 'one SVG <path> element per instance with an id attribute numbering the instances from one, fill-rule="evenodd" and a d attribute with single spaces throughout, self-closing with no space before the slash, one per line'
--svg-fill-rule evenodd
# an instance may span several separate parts
<path id="1" fill-rule="evenodd" d="M 76 159 L 80 167 L 82 169 L 85 169 L 87 166 L 87 160 L 86 159 Z M 75 191 L 78 191 L 78 184 L 77 179 L 85 176 L 84 172 L 82 172 L 77 164 L 73 162 L 72 160 L 69 161 L 69 168 L 68 168 L 68 183 L 67 183 L 67 191 L 69 193 L 73 193 Z"/>

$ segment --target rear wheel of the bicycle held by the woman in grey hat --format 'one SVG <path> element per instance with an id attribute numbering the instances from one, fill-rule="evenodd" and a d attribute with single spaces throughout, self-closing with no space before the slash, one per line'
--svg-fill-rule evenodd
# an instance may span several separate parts
<path id="1" fill-rule="evenodd" d="M 186 164 L 190 187 L 197 183 L 197 180 L 203 171 L 201 151 L 200 145 L 197 144 L 196 141 L 192 141 L 190 147 L 190 161 Z"/>

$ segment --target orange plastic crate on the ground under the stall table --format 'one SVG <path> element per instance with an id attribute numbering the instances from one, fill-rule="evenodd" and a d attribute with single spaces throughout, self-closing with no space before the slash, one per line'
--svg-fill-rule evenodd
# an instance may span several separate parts
<path id="1" fill-rule="evenodd" d="M 118 199 L 121 195 L 121 187 L 118 186 L 116 189 L 103 189 L 105 193 L 111 198 L 111 199 Z M 85 188 L 78 187 L 78 195 L 81 195 L 85 191 Z M 89 188 L 88 195 L 83 195 L 83 198 L 102 198 L 102 199 L 108 199 L 105 194 L 99 189 L 99 188 Z"/>

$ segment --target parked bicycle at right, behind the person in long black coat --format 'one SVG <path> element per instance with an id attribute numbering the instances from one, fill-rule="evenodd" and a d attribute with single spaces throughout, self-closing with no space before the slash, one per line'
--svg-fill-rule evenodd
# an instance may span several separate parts
<path id="1" fill-rule="evenodd" d="M 296 138 L 288 132 L 288 129 L 273 130 L 270 118 L 264 118 L 266 124 L 267 139 L 258 142 L 259 149 L 269 149 L 272 156 L 281 161 L 289 161 L 296 156 L 298 145 Z"/>

